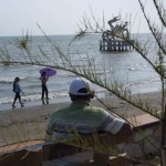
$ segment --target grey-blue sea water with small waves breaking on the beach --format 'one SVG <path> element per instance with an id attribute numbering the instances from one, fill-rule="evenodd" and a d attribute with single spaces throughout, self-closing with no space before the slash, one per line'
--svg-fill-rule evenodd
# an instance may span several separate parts
<path id="1" fill-rule="evenodd" d="M 149 40 L 149 44 L 154 44 L 151 34 L 134 35 L 142 43 Z M 72 58 L 75 66 L 82 68 L 84 62 L 93 59 L 96 68 L 96 73 L 102 76 L 104 73 L 112 75 L 114 73 L 116 80 L 123 83 L 123 87 L 131 87 L 132 93 L 154 92 L 160 90 L 158 75 L 152 66 L 135 51 L 124 52 L 103 52 L 100 51 L 101 34 L 87 35 L 81 40 L 71 43 L 74 35 L 52 35 L 52 42 L 55 42 L 61 50 Z M 1 37 L 0 48 L 13 54 L 18 59 L 20 54 L 18 50 L 11 45 L 11 41 L 19 37 Z M 39 45 L 51 54 L 50 44 L 45 37 L 32 37 L 33 54 L 39 54 Z M 153 54 L 155 52 L 151 50 Z M 15 56 L 14 56 L 15 55 Z M 13 102 L 14 93 L 12 92 L 12 83 L 14 77 L 21 79 L 20 85 L 24 94 L 22 100 L 25 106 L 40 105 L 41 101 L 41 82 L 39 71 L 42 66 L 38 65 L 2 65 L 0 64 L 0 111 L 10 110 Z M 76 77 L 75 74 L 63 70 L 56 70 L 56 75 L 49 77 L 49 103 L 70 102 L 69 86 L 71 81 Z M 112 76 L 110 77 L 112 81 Z M 106 90 L 94 85 L 95 92 L 101 96 L 107 95 Z M 20 106 L 20 104 L 17 104 Z"/>

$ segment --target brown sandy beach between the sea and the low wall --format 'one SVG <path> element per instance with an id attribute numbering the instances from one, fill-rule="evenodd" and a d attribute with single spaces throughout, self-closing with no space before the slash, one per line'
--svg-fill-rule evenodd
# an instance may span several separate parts
<path id="1" fill-rule="evenodd" d="M 159 92 L 144 93 L 141 95 L 141 98 L 152 107 L 160 108 L 162 100 Z M 138 108 L 113 96 L 111 98 L 105 98 L 105 102 L 110 103 L 116 113 L 127 115 L 127 117 L 144 114 L 144 112 Z M 96 100 L 93 100 L 92 103 L 102 106 Z M 55 103 L 1 111 L 0 147 L 18 142 L 43 141 L 45 126 L 50 115 L 54 111 L 68 105 L 70 105 L 70 103 Z"/>

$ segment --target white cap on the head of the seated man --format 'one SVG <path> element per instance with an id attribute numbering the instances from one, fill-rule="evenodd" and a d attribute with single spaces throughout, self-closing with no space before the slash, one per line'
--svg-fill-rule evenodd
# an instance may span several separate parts
<path id="1" fill-rule="evenodd" d="M 70 94 L 89 95 L 91 93 L 91 82 L 84 77 L 76 77 L 70 85 Z"/>

